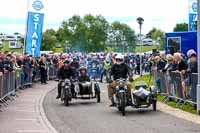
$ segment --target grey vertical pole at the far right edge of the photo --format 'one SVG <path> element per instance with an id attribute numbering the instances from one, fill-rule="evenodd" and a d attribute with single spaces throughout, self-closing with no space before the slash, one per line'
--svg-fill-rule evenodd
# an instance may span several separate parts
<path id="1" fill-rule="evenodd" d="M 197 84 L 197 113 L 200 115 L 200 0 L 197 0 L 197 53 L 198 53 L 198 84 Z"/>

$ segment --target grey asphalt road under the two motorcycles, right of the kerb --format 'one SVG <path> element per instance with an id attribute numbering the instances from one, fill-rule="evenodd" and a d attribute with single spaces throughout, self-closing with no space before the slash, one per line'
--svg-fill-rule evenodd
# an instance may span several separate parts
<path id="1" fill-rule="evenodd" d="M 101 84 L 105 91 L 105 84 Z M 200 126 L 174 116 L 153 112 L 152 109 L 127 108 L 125 117 L 116 108 L 110 108 L 106 91 L 102 102 L 96 99 L 73 101 L 65 107 L 50 92 L 43 103 L 45 112 L 59 133 L 199 133 Z"/>

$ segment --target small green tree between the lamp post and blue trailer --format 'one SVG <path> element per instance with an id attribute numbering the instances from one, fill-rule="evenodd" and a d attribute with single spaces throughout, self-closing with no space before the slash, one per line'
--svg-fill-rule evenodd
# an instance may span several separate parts
<path id="1" fill-rule="evenodd" d="M 160 29 L 153 28 L 152 30 L 149 31 L 146 35 L 148 38 L 153 39 L 154 41 L 158 42 L 160 44 L 160 49 L 164 49 L 164 36 L 165 33 L 161 31 Z"/>

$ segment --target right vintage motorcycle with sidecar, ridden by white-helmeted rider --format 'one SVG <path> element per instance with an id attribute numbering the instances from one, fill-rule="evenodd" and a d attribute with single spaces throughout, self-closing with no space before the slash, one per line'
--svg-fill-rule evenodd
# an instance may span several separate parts
<path id="1" fill-rule="evenodd" d="M 115 89 L 116 107 L 125 115 L 125 108 L 128 106 L 134 108 L 148 108 L 152 105 L 153 110 L 156 111 L 157 92 L 155 87 L 151 86 L 147 90 L 147 85 L 144 82 L 135 83 L 135 90 L 131 93 L 131 100 L 128 98 L 128 89 L 126 86 L 126 79 L 118 79 Z"/>

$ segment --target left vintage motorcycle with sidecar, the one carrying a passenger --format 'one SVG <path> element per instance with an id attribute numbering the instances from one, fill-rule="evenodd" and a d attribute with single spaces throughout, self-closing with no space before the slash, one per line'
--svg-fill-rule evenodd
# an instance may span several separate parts
<path id="1" fill-rule="evenodd" d="M 72 99 L 97 99 L 101 102 L 100 87 L 97 81 L 79 82 L 78 80 L 65 79 L 61 84 L 61 101 L 69 106 Z"/>

